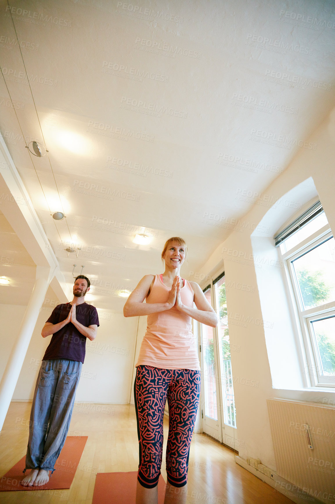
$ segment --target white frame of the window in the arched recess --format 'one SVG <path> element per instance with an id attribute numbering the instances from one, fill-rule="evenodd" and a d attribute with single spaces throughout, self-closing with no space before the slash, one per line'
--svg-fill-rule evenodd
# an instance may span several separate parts
<path id="1" fill-rule="evenodd" d="M 327 318 L 329 316 L 335 316 L 335 300 L 312 308 L 304 309 L 300 294 L 300 288 L 296 279 L 292 262 L 307 254 L 313 248 L 316 248 L 330 238 L 333 238 L 333 233 L 331 232 L 328 223 L 291 249 L 287 250 L 285 253 L 283 253 L 283 251 L 279 247 L 279 253 L 286 264 L 285 279 L 289 284 L 288 291 L 291 294 L 291 301 L 294 304 L 298 314 L 298 320 L 296 321 L 297 323 L 300 323 L 300 328 L 298 328 L 298 330 L 301 329 L 302 332 L 303 348 L 301 350 L 306 356 L 306 358 L 303 359 L 306 362 L 306 366 L 305 369 L 302 370 L 302 372 L 305 374 L 307 380 L 309 378 L 309 384 L 307 384 L 308 388 L 322 387 L 327 389 L 335 389 L 335 377 L 333 376 L 332 383 L 329 383 L 329 380 L 327 381 L 325 377 L 319 372 L 319 370 L 322 369 L 322 366 L 311 325 L 311 323 L 314 321 L 320 320 L 322 318 Z"/>

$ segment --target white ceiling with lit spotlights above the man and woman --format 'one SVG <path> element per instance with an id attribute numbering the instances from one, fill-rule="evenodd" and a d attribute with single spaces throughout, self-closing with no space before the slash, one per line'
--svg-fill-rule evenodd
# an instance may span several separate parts
<path id="1" fill-rule="evenodd" d="M 173 235 L 188 243 L 192 278 L 250 195 L 317 149 L 308 137 L 335 105 L 333 0 L 10 6 L 0 10 L 1 133 L 66 280 L 85 266 L 101 308 L 120 310 L 120 289 L 161 271 Z M 23 136 L 44 137 L 53 173 Z M 61 205 L 66 221 L 55 222 Z M 150 245 L 132 242 L 142 228 Z"/>

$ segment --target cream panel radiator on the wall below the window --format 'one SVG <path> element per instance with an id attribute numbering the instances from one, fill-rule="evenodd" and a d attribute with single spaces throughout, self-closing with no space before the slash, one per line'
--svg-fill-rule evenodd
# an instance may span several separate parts
<path id="1" fill-rule="evenodd" d="M 267 403 L 277 474 L 322 502 L 335 502 L 335 408 L 284 399 Z"/>

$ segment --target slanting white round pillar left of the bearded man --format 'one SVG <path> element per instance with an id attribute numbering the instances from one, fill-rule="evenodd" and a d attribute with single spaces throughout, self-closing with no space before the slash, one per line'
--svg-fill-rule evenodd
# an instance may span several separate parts
<path id="1" fill-rule="evenodd" d="M 54 275 L 54 272 L 51 275 L 49 273 L 50 268 L 36 267 L 36 280 L 33 292 L 23 316 L 19 335 L 12 348 L 0 383 L 0 430 L 3 428 L 37 318 Z"/>

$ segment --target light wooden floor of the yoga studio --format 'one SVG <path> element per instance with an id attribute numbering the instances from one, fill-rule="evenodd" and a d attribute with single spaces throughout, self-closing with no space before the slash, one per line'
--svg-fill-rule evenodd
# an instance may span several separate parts
<path id="1" fill-rule="evenodd" d="M 0 476 L 26 454 L 30 407 L 31 403 L 11 403 L 0 435 Z M 165 439 L 167 427 L 165 422 Z M 97 472 L 137 470 L 138 439 L 133 406 L 77 404 L 68 435 L 89 436 L 71 488 L 0 492 L 2 504 L 91 504 Z M 161 473 L 166 481 L 164 463 Z M 290 504 L 292 501 L 236 464 L 231 450 L 205 434 L 194 434 L 187 502 Z"/>

